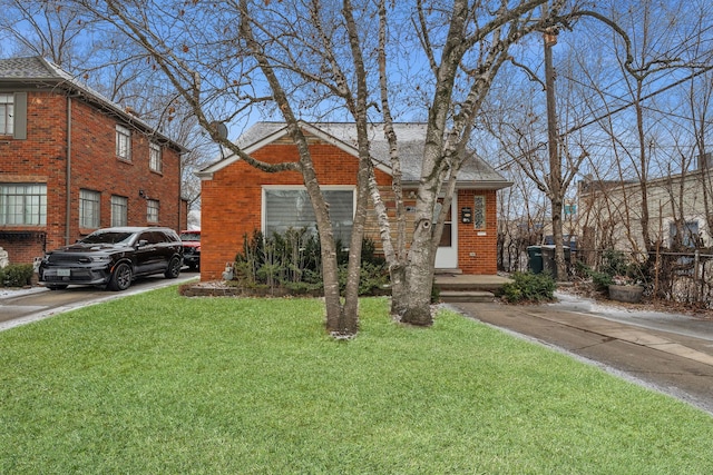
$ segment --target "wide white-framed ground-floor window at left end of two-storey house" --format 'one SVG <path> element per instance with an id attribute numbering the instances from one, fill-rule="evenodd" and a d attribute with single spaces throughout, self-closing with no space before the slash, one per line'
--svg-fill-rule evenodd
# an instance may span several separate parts
<path id="1" fill-rule="evenodd" d="M 0 184 L 0 225 L 46 226 L 47 184 Z"/>

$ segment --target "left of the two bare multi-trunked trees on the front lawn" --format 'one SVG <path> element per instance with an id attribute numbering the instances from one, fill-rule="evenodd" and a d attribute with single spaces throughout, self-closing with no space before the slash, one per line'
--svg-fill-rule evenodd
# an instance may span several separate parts
<path id="1" fill-rule="evenodd" d="M 365 128 L 365 66 L 353 17 L 356 9 L 349 1 L 342 10 L 323 8 L 319 1 L 77 4 L 140 47 L 148 67 L 162 72 L 219 147 L 263 171 L 302 174 L 322 244 L 326 329 L 336 336 L 355 334 L 359 263 L 368 199 L 365 181 L 371 166 Z M 334 41 L 333 38 L 344 40 Z M 340 60 L 345 62 L 340 63 Z M 339 101 L 340 107 L 354 118 L 362 164 L 343 304 L 328 205 L 300 127 L 303 108 L 330 101 Z M 266 107 L 283 117 L 297 146 L 299 161 L 267 164 L 256 160 L 218 133 L 214 126 L 216 121 L 240 120 L 254 107 Z"/>

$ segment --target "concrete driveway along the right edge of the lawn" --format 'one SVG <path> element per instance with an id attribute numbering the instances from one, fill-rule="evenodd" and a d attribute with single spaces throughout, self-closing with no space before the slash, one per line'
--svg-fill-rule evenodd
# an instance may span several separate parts
<path id="1" fill-rule="evenodd" d="M 563 305 L 451 304 L 486 324 L 584 358 L 609 373 L 668 394 L 713 414 L 713 340 L 686 328 L 701 321 L 670 315 L 681 331 L 646 328 Z M 713 331 L 713 321 L 703 321 Z"/>

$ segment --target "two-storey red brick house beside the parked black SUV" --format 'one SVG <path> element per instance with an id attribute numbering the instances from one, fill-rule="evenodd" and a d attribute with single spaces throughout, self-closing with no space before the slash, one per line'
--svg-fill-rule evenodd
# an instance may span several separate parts
<path id="1" fill-rule="evenodd" d="M 109 226 L 186 225 L 185 149 L 40 58 L 0 60 L 0 247 L 10 263 Z"/>

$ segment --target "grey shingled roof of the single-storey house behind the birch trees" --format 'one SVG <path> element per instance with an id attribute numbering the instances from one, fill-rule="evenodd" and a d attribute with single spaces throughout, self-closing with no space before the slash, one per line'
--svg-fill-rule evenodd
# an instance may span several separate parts
<path id="1" fill-rule="evenodd" d="M 356 128 L 351 122 L 318 122 L 302 123 L 305 132 L 320 137 L 343 150 L 358 155 Z M 421 178 L 421 161 L 423 158 L 423 144 L 427 123 L 398 122 L 393 125 L 398 137 L 399 157 L 404 184 L 417 184 Z M 245 152 L 251 154 L 265 145 L 271 144 L 287 135 L 284 122 L 257 122 L 247 129 L 235 144 Z M 369 127 L 371 142 L 371 156 L 374 164 L 382 170 L 390 172 L 389 142 L 383 135 L 382 123 L 372 123 Z M 211 177 L 214 172 L 231 165 L 238 158 L 228 156 L 201 170 L 198 176 Z M 470 154 L 458 174 L 460 188 L 500 189 L 511 185 L 490 165 Z"/>

